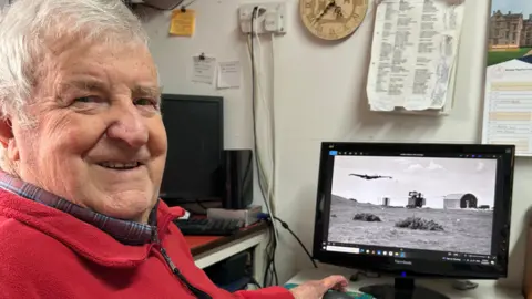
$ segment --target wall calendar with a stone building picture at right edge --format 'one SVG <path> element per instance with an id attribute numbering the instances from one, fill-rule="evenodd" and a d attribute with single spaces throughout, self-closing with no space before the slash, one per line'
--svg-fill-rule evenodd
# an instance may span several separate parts
<path id="1" fill-rule="evenodd" d="M 515 145 L 532 157 L 532 21 L 530 0 L 491 1 L 482 143 Z M 501 28 L 508 30 L 501 30 Z"/>

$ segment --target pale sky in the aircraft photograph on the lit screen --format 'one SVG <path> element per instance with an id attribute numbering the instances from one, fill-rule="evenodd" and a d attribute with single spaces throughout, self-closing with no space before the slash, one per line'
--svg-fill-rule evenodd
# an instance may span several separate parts
<path id="1" fill-rule="evenodd" d="M 443 208 L 449 194 L 471 193 L 478 205 L 494 204 L 497 161 L 481 158 L 336 156 L 334 195 L 380 205 L 406 206 L 409 192 L 420 192 L 427 206 Z M 364 179 L 349 174 L 391 176 Z"/>

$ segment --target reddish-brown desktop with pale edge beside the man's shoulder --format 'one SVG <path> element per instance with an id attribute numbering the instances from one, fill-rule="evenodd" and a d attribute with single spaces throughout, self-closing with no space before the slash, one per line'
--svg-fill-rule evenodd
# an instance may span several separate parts
<path id="1" fill-rule="evenodd" d="M 192 255 L 197 256 L 204 254 L 208 250 L 215 249 L 216 247 L 224 246 L 234 240 L 247 237 L 257 231 L 263 231 L 268 229 L 268 224 L 265 221 L 254 224 L 252 226 L 241 229 L 235 235 L 232 236 L 185 236 L 185 240 L 191 248 Z"/>

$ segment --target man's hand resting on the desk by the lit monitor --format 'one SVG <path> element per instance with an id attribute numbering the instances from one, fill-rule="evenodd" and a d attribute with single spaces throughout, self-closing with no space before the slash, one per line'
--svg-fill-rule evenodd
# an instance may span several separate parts
<path id="1" fill-rule="evenodd" d="M 347 285 L 345 277 L 334 275 L 321 280 L 307 281 L 290 291 L 296 299 L 321 299 L 330 289 L 346 291 Z"/>

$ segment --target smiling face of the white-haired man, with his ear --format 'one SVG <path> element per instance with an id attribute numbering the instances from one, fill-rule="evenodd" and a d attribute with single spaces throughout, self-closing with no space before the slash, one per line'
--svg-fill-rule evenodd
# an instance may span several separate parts
<path id="1" fill-rule="evenodd" d="M 160 89 L 144 47 L 52 47 L 27 112 L 13 121 L 18 173 L 78 205 L 146 221 L 166 158 Z"/>

